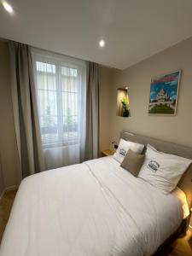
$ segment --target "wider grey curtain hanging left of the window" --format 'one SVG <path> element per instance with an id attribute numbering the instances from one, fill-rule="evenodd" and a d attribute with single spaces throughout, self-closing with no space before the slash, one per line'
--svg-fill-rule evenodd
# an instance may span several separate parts
<path id="1" fill-rule="evenodd" d="M 17 42 L 9 42 L 9 53 L 20 172 L 22 172 L 22 177 L 26 177 L 44 170 L 32 55 L 28 45 Z"/>

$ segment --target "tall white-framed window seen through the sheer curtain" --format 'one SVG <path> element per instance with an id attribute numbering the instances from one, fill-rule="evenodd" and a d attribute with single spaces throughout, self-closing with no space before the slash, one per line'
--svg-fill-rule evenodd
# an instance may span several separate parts
<path id="1" fill-rule="evenodd" d="M 44 148 L 79 143 L 84 123 L 84 65 L 33 55 Z"/>

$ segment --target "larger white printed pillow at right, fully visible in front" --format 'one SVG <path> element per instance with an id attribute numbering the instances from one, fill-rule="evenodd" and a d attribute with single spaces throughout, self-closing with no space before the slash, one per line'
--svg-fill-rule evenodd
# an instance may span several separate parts
<path id="1" fill-rule="evenodd" d="M 192 160 L 187 158 L 159 152 L 148 144 L 138 177 L 142 177 L 163 193 L 168 194 L 175 189 L 191 162 Z"/>

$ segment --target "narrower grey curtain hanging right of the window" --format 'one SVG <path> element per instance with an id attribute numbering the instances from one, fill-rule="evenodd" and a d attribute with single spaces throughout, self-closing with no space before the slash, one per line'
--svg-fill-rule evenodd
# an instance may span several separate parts
<path id="1" fill-rule="evenodd" d="M 85 160 L 99 155 L 99 67 L 87 62 Z"/>

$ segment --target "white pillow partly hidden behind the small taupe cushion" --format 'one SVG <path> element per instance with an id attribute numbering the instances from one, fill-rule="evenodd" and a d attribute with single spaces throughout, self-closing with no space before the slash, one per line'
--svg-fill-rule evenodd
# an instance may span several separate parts
<path id="1" fill-rule="evenodd" d="M 143 148 L 144 148 L 143 144 L 132 143 L 129 141 L 125 141 L 124 139 L 121 138 L 119 141 L 119 146 L 116 152 L 113 154 L 113 158 L 119 161 L 119 163 L 122 163 L 129 149 L 131 149 L 132 151 L 138 154 L 142 154 Z"/>

